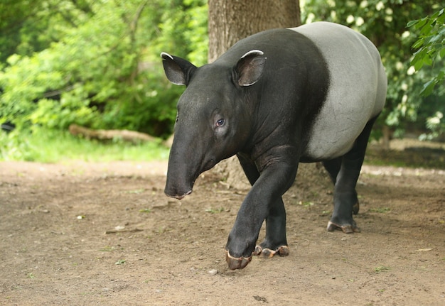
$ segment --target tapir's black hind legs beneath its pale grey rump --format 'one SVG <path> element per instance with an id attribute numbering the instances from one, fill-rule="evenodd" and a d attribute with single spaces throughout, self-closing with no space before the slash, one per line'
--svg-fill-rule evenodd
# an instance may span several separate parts
<path id="1" fill-rule="evenodd" d="M 355 185 L 360 175 L 366 146 L 368 146 L 368 139 L 375 119 L 377 117 L 368 121 L 365 129 L 360 133 L 353 148 L 348 153 L 341 158 L 323 163 L 334 182 L 334 207 L 331 221 L 328 222 L 328 231 L 341 229 L 347 234 L 360 231 L 353 219 L 353 214 L 357 214 L 359 209 Z"/>

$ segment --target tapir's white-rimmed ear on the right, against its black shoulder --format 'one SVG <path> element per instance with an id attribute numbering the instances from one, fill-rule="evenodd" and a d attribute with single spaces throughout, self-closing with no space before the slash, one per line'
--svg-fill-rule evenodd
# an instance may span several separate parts
<path id="1" fill-rule="evenodd" d="M 235 66 L 237 83 L 240 86 L 250 86 L 255 84 L 261 77 L 266 58 L 260 50 L 251 50 L 242 55 Z"/>

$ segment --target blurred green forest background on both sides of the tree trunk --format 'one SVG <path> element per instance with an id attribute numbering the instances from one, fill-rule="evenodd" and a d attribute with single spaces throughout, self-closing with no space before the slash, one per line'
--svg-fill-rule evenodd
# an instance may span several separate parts
<path id="1" fill-rule="evenodd" d="M 389 87 L 375 137 L 443 135 L 444 6 L 432 0 L 300 1 L 302 23 L 342 23 L 380 50 Z M 2 0 L 0 160 L 57 160 L 43 146 L 63 146 L 68 154 L 75 141 L 70 124 L 168 138 L 184 88 L 164 77 L 162 51 L 195 65 L 207 62 L 207 1 Z M 149 149 L 160 146 L 161 140 Z"/>

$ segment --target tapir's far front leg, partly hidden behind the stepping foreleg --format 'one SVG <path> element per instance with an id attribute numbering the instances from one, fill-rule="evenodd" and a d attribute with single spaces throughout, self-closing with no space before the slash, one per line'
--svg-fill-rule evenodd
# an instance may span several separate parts
<path id="1" fill-rule="evenodd" d="M 239 154 L 237 157 L 250 184 L 254 185 L 254 182 L 259 177 L 256 165 L 245 155 Z M 282 197 L 279 197 L 272 204 L 272 207 L 269 207 L 269 214 L 266 217 L 266 236 L 253 253 L 253 255 L 262 255 L 266 258 L 270 258 L 275 254 L 279 256 L 289 255 L 286 240 L 286 210 L 284 209 Z"/>

